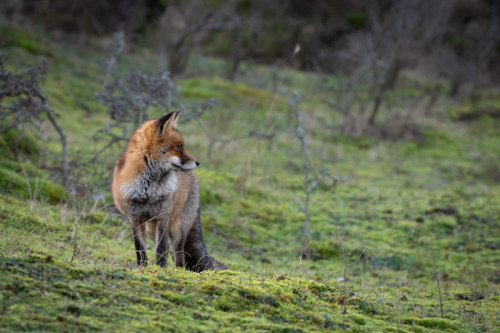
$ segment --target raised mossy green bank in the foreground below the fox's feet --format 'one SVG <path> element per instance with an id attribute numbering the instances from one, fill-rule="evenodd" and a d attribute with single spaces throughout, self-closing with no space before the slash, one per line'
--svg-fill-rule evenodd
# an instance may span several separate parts
<path id="1" fill-rule="evenodd" d="M 315 332 L 342 322 L 337 284 L 286 275 L 96 269 L 33 252 L 0 256 L 0 267 L 0 299 L 10 304 L 0 324 L 5 330 Z M 366 303 L 349 296 L 351 330 L 463 329 L 453 320 L 401 316 Z"/>

